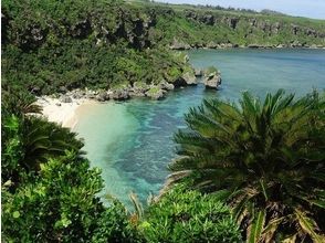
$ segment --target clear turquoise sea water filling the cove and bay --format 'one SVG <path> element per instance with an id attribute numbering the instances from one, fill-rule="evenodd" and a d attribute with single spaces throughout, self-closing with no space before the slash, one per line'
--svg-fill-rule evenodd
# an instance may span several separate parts
<path id="1" fill-rule="evenodd" d="M 84 138 L 92 166 L 102 168 L 105 189 L 129 204 L 135 191 L 145 201 L 157 193 L 175 157 L 172 134 L 184 127 L 184 114 L 203 98 L 237 99 L 242 91 L 264 96 L 284 88 L 303 95 L 325 88 L 325 51 L 198 50 L 188 53 L 196 67 L 216 65 L 222 88 L 203 85 L 170 92 L 164 101 L 133 99 L 88 105 L 78 114 L 75 130 Z"/>

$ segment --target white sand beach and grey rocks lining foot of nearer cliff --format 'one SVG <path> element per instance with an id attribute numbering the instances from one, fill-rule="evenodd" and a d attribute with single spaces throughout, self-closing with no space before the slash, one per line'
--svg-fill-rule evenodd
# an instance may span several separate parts
<path id="1" fill-rule="evenodd" d="M 218 89 L 221 85 L 221 73 L 216 67 L 187 72 L 174 83 L 166 81 L 157 85 L 136 82 L 133 86 L 108 91 L 74 89 L 50 96 L 38 97 L 36 104 L 42 107 L 42 115 L 49 122 L 61 124 L 63 127 L 73 128 L 77 124 L 76 110 L 84 104 L 102 103 L 107 101 L 126 101 L 134 97 L 161 99 L 175 88 L 193 86 L 199 82 L 206 88 Z"/>

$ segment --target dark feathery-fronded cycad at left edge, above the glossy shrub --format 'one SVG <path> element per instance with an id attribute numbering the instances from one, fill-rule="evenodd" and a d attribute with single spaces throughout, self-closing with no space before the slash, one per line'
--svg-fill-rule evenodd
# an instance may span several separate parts
<path id="1" fill-rule="evenodd" d="M 75 138 L 76 134 L 31 115 L 41 110 L 33 97 L 22 92 L 3 94 L 2 180 L 18 182 L 21 173 L 38 172 L 42 162 L 65 155 L 66 150 L 82 155 L 83 142 Z"/>

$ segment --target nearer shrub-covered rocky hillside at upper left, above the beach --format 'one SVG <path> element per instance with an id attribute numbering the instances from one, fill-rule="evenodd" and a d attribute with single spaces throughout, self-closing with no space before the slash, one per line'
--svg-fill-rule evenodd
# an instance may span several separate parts
<path id="1" fill-rule="evenodd" d="M 119 1 L 3 1 L 2 13 L 4 89 L 42 95 L 172 83 L 169 72 L 189 68 L 181 55 L 153 41 L 151 11 Z"/>

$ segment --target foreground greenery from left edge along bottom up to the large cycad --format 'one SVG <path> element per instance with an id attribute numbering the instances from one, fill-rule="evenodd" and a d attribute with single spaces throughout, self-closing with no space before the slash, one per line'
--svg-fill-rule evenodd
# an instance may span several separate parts
<path id="1" fill-rule="evenodd" d="M 229 209 L 200 192 L 177 188 L 144 215 L 137 207 L 137 218 L 111 197 L 104 205 L 101 170 L 81 156 L 75 134 L 31 115 L 39 107 L 20 95 L 7 96 L 2 107 L 3 241 L 188 242 L 191 232 L 197 240 L 240 242 Z M 20 108 L 11 113 L 18 99 Z"/>

